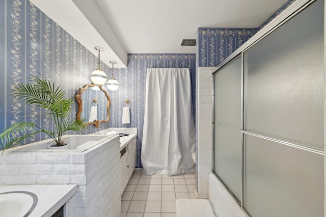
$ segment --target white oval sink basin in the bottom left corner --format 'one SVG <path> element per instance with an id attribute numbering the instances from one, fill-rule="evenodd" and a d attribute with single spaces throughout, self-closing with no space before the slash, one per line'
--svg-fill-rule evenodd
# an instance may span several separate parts
<path id="1" fill-rule="evenodd" d="M 2 216 L 28 216 L 37 204 L 38 198 L 31 192 L 0 193 L 0 210 Z"/>

